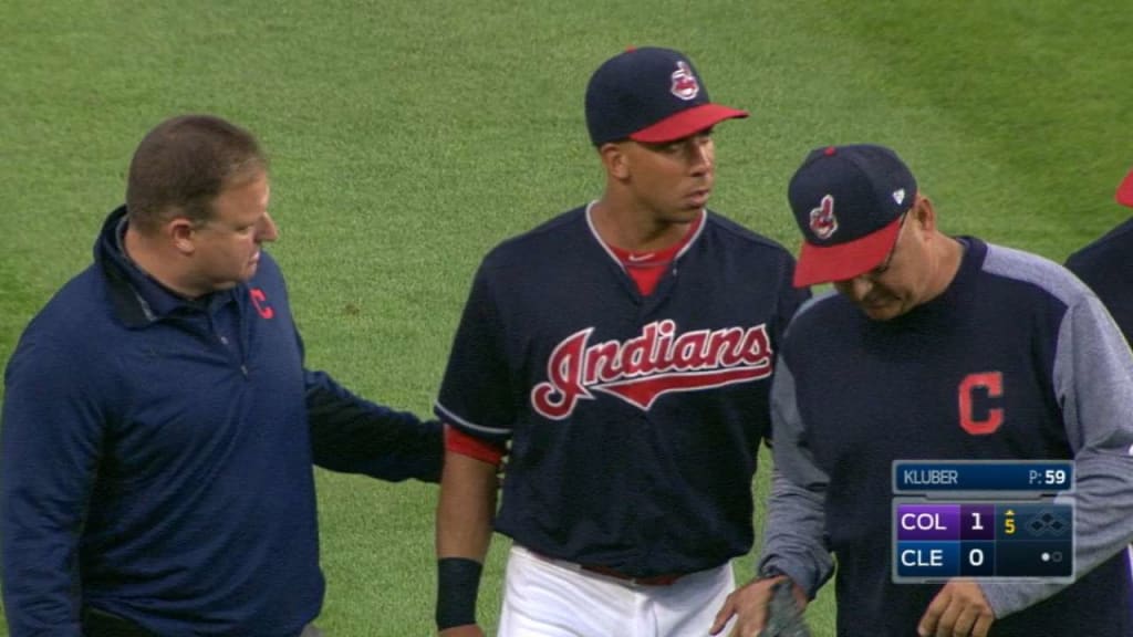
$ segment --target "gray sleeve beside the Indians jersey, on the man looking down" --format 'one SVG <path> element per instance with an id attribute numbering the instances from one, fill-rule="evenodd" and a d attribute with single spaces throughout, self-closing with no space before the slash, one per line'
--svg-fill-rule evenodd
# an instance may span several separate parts
<path id="1" fill-rule="evenodd" d="M 803 442 L 794 376 L 781 357 L 772 383 L 772 449 L 775 469 L 764 527 L 760 572 L 786 574 L 813 598 L 834 572 L 826 547 L 826 484 Z"/>

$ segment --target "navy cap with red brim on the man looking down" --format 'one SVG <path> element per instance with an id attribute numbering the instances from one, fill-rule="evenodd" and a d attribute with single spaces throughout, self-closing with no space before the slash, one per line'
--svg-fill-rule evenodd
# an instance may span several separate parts
<path id="1" fill-rule="evenodd" d="M 917 202 L 917 180 L 895 152 L 858 144 L 815 148 L 787 198 L 802 230 L 794 284 L 844 281 L 880 265 Z"/>

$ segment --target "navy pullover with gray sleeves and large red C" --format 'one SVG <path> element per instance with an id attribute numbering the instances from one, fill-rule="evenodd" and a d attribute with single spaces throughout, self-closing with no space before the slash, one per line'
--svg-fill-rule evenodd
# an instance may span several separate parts
<path id="1" fill-rule="evenodd" d="M 773 507 L 787 512 L 768 521 L 765 563 L 813 589 L 824 574 L 807 555 L 829 549 L 838 635 L 915 635 L 940 586 L 892 581 L 892 462 L 1074 458 L 1076 559 L 1083 569 L 1102 563 L 1053 596 L 1058 585 L 985 584 L 1004 615 L 993 635 L 1130 635 L 1133 589 L 1118 551 L 1133 526 L 1133 362 L 1065 270 L 964 243 L 952 284 L 904 315 L 871 321 L 830 295 L 795 318 L 773 399 L 782 474 Z M 800 508 L 798 487 L 825 516 Z M 825 546 L 800 544 L 808 523 L 792 518 L 811 520 Z"/>

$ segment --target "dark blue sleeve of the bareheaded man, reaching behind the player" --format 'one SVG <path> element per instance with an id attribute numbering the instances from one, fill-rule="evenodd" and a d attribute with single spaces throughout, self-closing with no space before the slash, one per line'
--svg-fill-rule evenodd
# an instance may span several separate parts
<path id="1" fill-rule="evenodd" d="M 359 398 L 323 372 L 304 371 L 315 464 L 333 472 L 440 482 L 441 424 Z"/>

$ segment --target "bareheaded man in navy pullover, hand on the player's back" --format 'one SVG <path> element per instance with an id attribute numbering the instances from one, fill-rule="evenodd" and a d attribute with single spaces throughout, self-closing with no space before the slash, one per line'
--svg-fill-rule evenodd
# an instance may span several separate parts
<path id="1" fill-rule="evenodd" d="M 27 326 L 0 438 L 11 637 L 317 635 L 312 462 L 438 479 L 436 423 L 304 367 L 269 195 L 246 130 L 162 122 Z"/>

